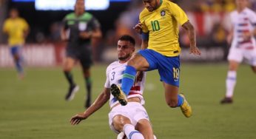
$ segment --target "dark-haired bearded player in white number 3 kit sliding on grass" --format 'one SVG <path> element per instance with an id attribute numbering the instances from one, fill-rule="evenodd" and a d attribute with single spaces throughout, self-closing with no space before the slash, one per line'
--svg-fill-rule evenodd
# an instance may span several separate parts
<path id="1" fill-rule="evenodd" d="M 124 131 L 129 139 L 148 138 L 153 139 L 152 126 L 149 122 L 149 116 L 144 109 L 144 82 L 145 73 L 140 81 L 135 82 L 134 86 L 130 88 L 128 95 L 128 103 L 126 106 L 121 106 L 117 99 L 110 93 L 111 84 L 121 84 L 121 78 L 124 74 L 124 69 L 127 61 L 132 57 L 135 51 L 135 39 L 130 35 L 123 35 L 118 40 L 118 61 L 112 62 L 107 67 L 107 80 L 104 89 L 95 102 L 85 112 L 73 116 L 70 123 L 75 125 L 85 120 L 100 109 L 104 104 L 110 100 L 109 123 L 110 128 L 116 132 Z"/>

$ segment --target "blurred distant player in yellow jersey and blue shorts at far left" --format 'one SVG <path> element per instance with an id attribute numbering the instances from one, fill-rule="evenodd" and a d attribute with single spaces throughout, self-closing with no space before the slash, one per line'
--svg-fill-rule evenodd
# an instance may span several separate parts
<path id="1" fill-rule="evenodd" d="M 17 9 L 10 10 L 10 18 L 4 21 L 3 32 L 8 35 L 8 44 L 10 53 L 16 64 L 18 77 L 24 78 L 23 58 L 21 55 L 21 47 L 24 45 L 25 38 L 29 33 L 30 27 L 24 18 L 18 16 Z"/>

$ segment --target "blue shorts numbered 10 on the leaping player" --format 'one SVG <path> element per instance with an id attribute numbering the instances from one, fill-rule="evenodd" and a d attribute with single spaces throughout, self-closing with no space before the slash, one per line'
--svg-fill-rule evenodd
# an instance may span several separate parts
<path id="1" fill-rule="evenodd" d="M 179 87 L 180 85 L 180 56 L 167 57 L 154 50 L 140 50 L 138 52 L 149 62 L 149 69 L 158 69 L 160 81 Z"/>

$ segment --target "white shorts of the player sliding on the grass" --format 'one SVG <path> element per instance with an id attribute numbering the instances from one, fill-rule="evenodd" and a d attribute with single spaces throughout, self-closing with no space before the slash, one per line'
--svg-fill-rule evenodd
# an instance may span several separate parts
<path id="1" fill-rule="evenodd" d="M 133 126 L 136 126 L 138 121 L 140 121 L 141 119 L 146 119 L 149 121 L 149 116 L 146 113 L 146 109 L 138 102 L 128 102 L 126 106 L 115 106 L 109 113 L 109 123 L 110 129 L 112 129 L 112 131 L 114 131 L 117 134 L 119 132 L 115 130 L 113 126 L 113 118 L 116 115 L 123 115 L 129 118 Z"/>

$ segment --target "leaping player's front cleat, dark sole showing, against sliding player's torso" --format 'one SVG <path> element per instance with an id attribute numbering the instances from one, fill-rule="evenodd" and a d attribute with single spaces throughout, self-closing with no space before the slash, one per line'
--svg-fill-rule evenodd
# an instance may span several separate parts
<path id="1" fill-rule="evenodd" d="M 119 101 L 122 106 L 127 105 L 127 95 L 118 87 L 116 84 L 112 84 L 110 87 L 110 92 Z"/>

